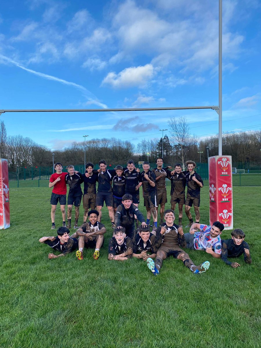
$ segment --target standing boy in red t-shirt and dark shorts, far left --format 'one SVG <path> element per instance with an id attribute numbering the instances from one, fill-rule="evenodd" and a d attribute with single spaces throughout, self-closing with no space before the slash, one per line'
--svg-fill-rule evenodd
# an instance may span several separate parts
<path id="1" fill-rule="evenodd" d="M 60 202 L 61 212 L 63 216 L 63 227 L 66 227 L 65 205 L 66 205 L 67 188 L 66 188 L 65 176 L 68 174 L 68 173 L 62 172 L 63 165 L 60 162 L 55 163 L 54 169 L 56 170 L 56 173 L 50 176 L 50 182 L 49 182 L 49 187 L 53 188 L 51 201 L 50 201 L 50 204 L 52 205 L 52 210 L 51 210 L 52 230 L 55 229 L 55 211 L 56 211 L 56 206 L 58 201 Z"/>

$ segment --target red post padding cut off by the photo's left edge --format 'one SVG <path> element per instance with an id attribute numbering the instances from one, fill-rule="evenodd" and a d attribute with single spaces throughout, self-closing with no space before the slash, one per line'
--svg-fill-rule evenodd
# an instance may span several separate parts
<path id="1" fill-rule="evenodd" d="M 0 229 L 10 227 L 9 183 L 7 159 L 0 159 Z"/>

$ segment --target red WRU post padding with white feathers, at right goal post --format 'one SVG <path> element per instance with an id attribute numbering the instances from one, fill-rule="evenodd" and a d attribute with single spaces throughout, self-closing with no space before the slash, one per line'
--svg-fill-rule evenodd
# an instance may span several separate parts
<path id="1" fill-rule="evenodd" d="M 232 158 L 208 158 L 209 172 L 209 222 L 220 221 L 225 230 L 233 229 Z"/>

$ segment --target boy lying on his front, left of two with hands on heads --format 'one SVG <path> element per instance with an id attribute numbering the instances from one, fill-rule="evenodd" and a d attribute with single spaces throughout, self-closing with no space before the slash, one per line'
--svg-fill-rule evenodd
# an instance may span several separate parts
<path id="1" fill-rule="evenodd" d="M 125 261 L 132 257 L 133 244 L 129 237 L 126 237 L 124 227 L 116 227 L 113 236 L 109 241 L 108 260 Z"/>

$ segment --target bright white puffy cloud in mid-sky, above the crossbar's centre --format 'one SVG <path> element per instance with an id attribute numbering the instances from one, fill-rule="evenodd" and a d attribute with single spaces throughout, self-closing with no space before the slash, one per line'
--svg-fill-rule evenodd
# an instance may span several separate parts
<path id="1" fill-rule="evenodd" d="M 114 88 L 144 87 L 153 76 L 152 64 L 126 68 L 116 74 L 109 72 L 103 79 L 102 85 L 109 84 Z"/>

